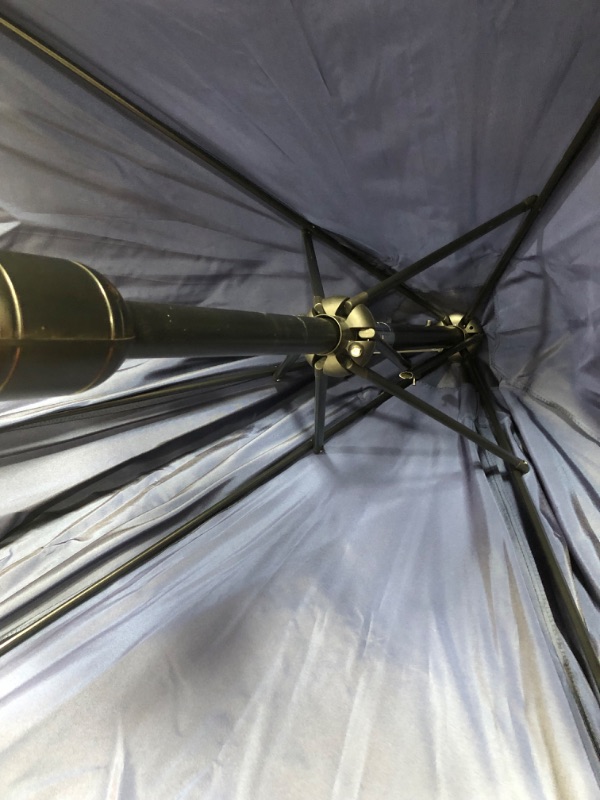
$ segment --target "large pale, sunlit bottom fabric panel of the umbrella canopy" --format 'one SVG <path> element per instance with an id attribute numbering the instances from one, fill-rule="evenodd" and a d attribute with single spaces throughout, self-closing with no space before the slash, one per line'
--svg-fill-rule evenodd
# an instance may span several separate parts
<path id="1" fill-rule="evenodd" d="M 387 404 L 9 654 L 9 796 L 595 797 L 474 464 Z"/>

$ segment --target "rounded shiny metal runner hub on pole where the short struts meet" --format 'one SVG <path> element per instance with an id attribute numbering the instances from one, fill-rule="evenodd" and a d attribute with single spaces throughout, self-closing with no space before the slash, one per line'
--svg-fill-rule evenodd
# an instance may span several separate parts
<path id="1" fill-rule="evenodd" d="M 365 305 L 357 305 L 347 312 L 348 298 L 341 296 L 318 299 L 309 311 L 309 317 L 329 319 L 338 329 L 338 341 L 329 353 L 307 353 L 308 363 L 333 378 L 349 374 L 344 364 L 350 359 L 363 367 L 375 350 L 375 317 Z"/>

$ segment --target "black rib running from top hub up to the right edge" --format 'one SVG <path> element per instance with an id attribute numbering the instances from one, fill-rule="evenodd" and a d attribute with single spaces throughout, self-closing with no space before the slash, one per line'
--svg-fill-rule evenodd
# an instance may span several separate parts
<path id="1" fill-rule="evenodd" d="M 548 179 L 548 182 L 546 183 L 542 191 L 539 193 L 529 213 L 517 228 L 515 235 L 513 236 L 507 248 L 500 256 L 498 263 L 492 270 L 488 279 L 485 281 L 485 283 L 481 286 L 481 288 L 477 292 L 477 295 L 473 300 L 473 302 L 471 303 L 469 310 L 465 313 L 462 320 L 460 321 L 461 325 L 463 326 L 466 325 L 487 304 L 488 300 L 492 296 L 494 289 L 496 288 L 502 276 L 506 272 L 508 265 L 510 264 L 513 256 L 519 249 L 521 243 L 531 230 L 533 224 L 535 223 L 540 213 L 544 209 L 544 206 L 548 203 L 548 200 L 550 200 L 550 198 L 552 197 L 554 190 L 561 182 L 561 180 L 564 178 L 569 167 L 573 164 L 577 156 L 581 153 L 583 148 L 591 139 L 592 135 L 598 128 L 599 123 L 600 123 L 600 98 L 598 98 L 598 100 L 596 100 L 596 102 L 594 103 L 592 110 L 587 115 L 582 126 L 575 134 L 575 137 L 571 141 L 571 144 L 567 147 L 563 157 L 556 165 L 552 175 Z"/>

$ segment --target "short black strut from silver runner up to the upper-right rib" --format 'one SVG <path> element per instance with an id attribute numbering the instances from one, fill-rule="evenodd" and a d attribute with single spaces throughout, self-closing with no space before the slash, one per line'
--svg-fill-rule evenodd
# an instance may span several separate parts
<path id="1" fill-rule="evenodd" d="M 501 214 L 492 217 L 492 219 L 489 219 L 487 222 L 478 225 L 476 228 L 473 228 L 472 231 L 464 233 L 462 236 L 459 236 L 458 239 L 454 239 L 454 241 L 445 244 L 438 250 L 434 250 L 433 253 L 420 258 L 418 261 L 415 261 L 414 264 L 398 270 L 398 272 L 396 272 L 394 275 L 391 275 L 389 278 L 385 278 L 385 280 L 375 284 L 375 286 L 371 286 L 366 291 L 359 292 L 350 299 L 350 307 L 354 308 L 354 306 L 360 305 L 361 303 L 371 303 L 378 297 L 383 297 L 384 295 L 389 294 L 404 281 L 414 278 L 415 275 L 419 275 L 421 272 L 429 269 L 429 267 L 432 267 L 434 264 L 437 264 L 439 261 L 442 261 L 444 258 L 452 255 L 452 253 L 462 250 L 463 247 L 471 244 L 471 242 L 480 239 L 482 236 L 485 236 L 486 233 L 499 228 L 501 225 L 504 225 L 511 219 L 514 219 L 519 214 L 527 211 L 533 206 L 536 200 L 537 197 L 535 195 L 526 197 L 525 200 L 517 203 L 506 211 L 503 211 Z"/>

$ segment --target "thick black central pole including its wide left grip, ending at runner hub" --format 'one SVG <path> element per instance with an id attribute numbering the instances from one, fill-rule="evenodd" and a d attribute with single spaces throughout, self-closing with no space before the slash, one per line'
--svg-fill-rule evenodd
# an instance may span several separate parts
<path id="1" fill-rule="evenodd" d="M 96 386 L 124 358 L 331 353 L 329 317 L 127 302 L 72 261 L 0 252 L 0 390 L 7 397 Z"/>

